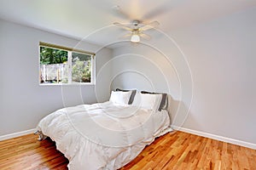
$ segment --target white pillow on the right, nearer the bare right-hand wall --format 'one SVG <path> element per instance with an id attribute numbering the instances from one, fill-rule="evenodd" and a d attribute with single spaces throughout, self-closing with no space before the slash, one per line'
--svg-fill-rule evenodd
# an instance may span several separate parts
<path id="1" fill-rule="evenodd" d="M 140 94 L 141 107 L 143 109 L 149 109 L 157 111 L 162 99 L 162 94 Z"/>

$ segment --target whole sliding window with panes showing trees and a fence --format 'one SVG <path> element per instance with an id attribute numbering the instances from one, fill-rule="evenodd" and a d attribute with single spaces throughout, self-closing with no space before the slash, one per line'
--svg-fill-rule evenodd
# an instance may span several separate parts
<path id="1" fill-rule="evenodd" d="M 40 84 L 94 83 L 94 55 L 40 42 Z"/>

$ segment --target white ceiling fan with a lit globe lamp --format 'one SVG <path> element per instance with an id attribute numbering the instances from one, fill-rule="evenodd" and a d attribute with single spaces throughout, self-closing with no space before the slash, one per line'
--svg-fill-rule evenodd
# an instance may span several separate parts
<path id="1" fill-rule="evenodd" d="M 148 31 L 150 29 L 156 28 L 159 26 L 158 21 L 153 21 L 148 24 L 143 24 L 140 20 L 132 20 L 131 26 L 126 26 L 124 24 L 120 24 L 119 22 L 114 22 L 113 25 L 119 26 L 120 28 L 125 29 L 126 31 L 130 31 L 125 37 L 131 37 L 131 42 L 140 42 L 141 37 L 145 39 L 150 39 L 151 37 L 148 34 L 145 34 L 143 31 Z"/>

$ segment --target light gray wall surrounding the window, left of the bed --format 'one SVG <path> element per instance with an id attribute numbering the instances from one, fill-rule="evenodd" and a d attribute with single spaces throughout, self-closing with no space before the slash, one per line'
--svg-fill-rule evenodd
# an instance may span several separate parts
<path id="1" fill-rule="evenodd" d="M 97 52 L 96 73 L 112 58 L 109 48 L 0 20 L 0 136 L 32 129 L 42 117 L 63 106 L 108 99 L 108 94 L 96 99 L 94 85 L 39 86 L 39 41 Z M 105 77 L 109 77 L 108 70 Z M 98 88 L 104 90 L 104 84 Z"/>

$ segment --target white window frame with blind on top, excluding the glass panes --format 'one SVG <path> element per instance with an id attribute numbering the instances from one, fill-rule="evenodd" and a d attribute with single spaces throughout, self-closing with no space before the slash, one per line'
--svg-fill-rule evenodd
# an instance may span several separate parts
<path id="1" fill-rule="evenodd" d="M 61 49 L 67 51 L 67 83 L 41 83 L 40 82 L 40 47 L 45 47 L 45 48 L 55 48 L 55 49 Z M 96 80 L 96 59 L 94 53 L 80 50 L 80 49 L 74 49 L 74 48 L 67 48 L 55 44 L 50 44 L 50 43 L 45 43 L 45 42 L 39 42 L 38 46 L 38 77 L 39 77 L 39 85 L 40 86 L 59 86 L 59 85 L 95 85 L 95 80 Z M 79 54 L 88 54 L 90 55 L 90 82 L 72 82 L 72 53 L 79 53 Z M 70 71 L 71 70 L 71 71 Z"/>

